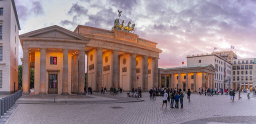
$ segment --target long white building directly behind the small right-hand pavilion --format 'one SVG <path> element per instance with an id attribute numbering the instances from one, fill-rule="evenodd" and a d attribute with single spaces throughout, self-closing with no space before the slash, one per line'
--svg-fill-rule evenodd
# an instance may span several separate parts
<path id="1" fill-rule="evenodd" d="M 216 71 L 214 73 L 214 87 L 227 88 L 232 85 L 232 65 L 224 58 L 216 54 L 188 55 L 187 66 L 212 64 Z"/>

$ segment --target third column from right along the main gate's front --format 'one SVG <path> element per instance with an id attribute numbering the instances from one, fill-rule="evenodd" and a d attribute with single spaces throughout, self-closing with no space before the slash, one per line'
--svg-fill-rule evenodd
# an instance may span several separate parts
<path id="1" fill-rule="evenodd" d="M 130 67 L 131 67 L 131 88 L 136 88 L 136 54 L 135 53 L 131 53 L 131 64 L 130 64 Z"/>

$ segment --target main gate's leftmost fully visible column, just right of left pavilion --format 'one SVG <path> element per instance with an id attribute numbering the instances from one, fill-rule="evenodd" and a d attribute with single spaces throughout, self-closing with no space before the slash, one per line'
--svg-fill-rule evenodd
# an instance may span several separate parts
<path id="1" fill-rule="evenodd" d="M 96 83 L 97 83 L 97 91 L 101 90 L 102 87 L 102 48 L 96 49 Z"/>

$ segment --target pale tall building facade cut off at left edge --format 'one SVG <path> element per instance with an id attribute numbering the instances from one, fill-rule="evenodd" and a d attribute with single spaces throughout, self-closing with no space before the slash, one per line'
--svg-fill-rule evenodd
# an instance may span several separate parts
<path id="1" fill-rule="evenodd" d="M 0 0 L 0 93 L 18 90 L 19 19 L 14 0 Z"/>

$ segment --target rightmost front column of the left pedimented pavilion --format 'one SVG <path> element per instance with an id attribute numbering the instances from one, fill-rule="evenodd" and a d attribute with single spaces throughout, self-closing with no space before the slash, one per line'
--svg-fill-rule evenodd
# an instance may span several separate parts
<path id="1" fill-rule="evenodd" d="M 79 60 L 78 60 L 78 94 L 84 94 L 84 83 L 85 83 L 85 70 L 84 70 L 85 69 L 85 56 L 84 56 L 84 54 L 85 54 L 84 49 L 81 49 L 79 51 Z M 102 59 L 102 57 L 101 57 L 101 59 Z"/>

